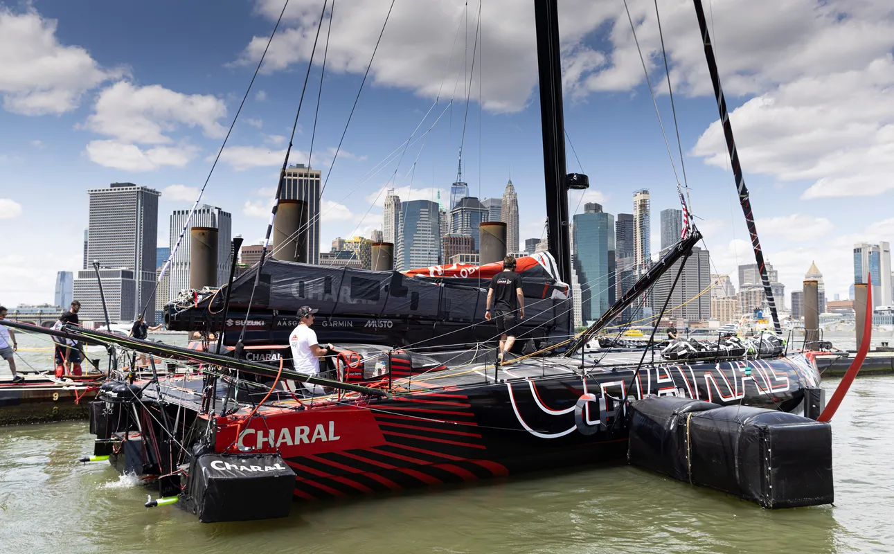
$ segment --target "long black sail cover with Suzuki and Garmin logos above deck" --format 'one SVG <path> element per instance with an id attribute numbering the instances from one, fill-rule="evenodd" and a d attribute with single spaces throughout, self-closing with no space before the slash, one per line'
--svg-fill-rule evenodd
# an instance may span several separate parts
<path id="1" fill-rule="evenodd" d="M 534 262 L 519 264 L 525 268 L 519 271 L 525 295 L 525 318 L 516 329 L 520 344 L 534 339 L 539 346 L 567 338 L 572 332 L 569 287 L 554 277 L 554 264 L 549 260 L 548 254 L 539 254 Z M 247 343 L 285 342 L 298 324 L 298 308 L 311 306 L 319 310 L 314 330 L 321 342 L 450 349 L 496 340 L 496 325 L 485 321 L 491 272 L 463 272 L 468 276 L 461 276 L 460 272 L 441 271 L 446 267 L 417 270 L 410 276 L 271 259 L 264 264 L 253 298 L 257 266 L 233 282 L 225 322 L 220 313 L 225 290 L 199 299 L 194 306 L 169 304 L 164 319 L 168 329 L 176 331 L 217 331 L 225 323 L 224 341 L 228 344 L 238 340 L 247 320 Z"/>

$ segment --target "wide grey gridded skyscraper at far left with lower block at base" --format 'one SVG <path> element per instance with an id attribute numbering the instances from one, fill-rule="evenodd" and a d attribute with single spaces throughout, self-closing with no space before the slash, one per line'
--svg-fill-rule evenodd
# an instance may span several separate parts
<path id="1" fill-rule="evenodd" d="M 116 322 L 131 321 L 155 288 L 161 193 L 122 182 L 112 183 L 108 189 L 89 189 L 87 194 L 90 197 L 89 269 L 78 272 L 74 280 L 74 296 L 81 303 L 80 315 L 93 321 L 105 319 L 97 275 L 91 265 L 98 261 L 104 268 L 100 274 L 109 318 Z M 155 310 L 147 311 L 147 319 L 155 319 Z"/>

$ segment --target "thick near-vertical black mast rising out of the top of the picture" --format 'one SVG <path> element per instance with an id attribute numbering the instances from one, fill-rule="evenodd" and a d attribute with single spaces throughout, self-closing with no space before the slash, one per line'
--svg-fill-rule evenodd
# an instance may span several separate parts
<path id="1" fill-rule="evenodd" d="M 559 267 L 571 282 L 568 193 L 565 186 L 565 121 L 561 103 L 561 59 L 557 0 L 534 0 L 537 68 L 540 73 L 540 118 L 544 131 L 546 237 Z"/>

